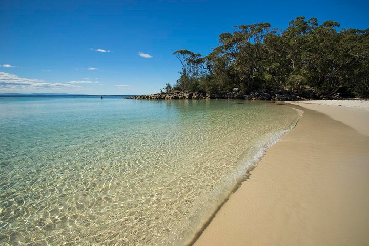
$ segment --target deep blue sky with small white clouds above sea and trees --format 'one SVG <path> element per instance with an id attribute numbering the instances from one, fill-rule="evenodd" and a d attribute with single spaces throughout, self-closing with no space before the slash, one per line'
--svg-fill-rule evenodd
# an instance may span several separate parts
<path id="1" fill-rule="evenodd" d="M 367 1 L 0 1 L 0 93 L 157 93 L 173 55 L 207 55 L 234 25 L 297 16 L 369 28 Z M 104 52 L 105 51 L 105 52 Z"/>

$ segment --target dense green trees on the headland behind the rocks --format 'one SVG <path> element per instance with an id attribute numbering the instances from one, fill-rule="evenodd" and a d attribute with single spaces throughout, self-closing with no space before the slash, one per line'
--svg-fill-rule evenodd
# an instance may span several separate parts
<path id="1" fill-rule="evenodd" d="M 285 30 L 269 23 L 241 25 L 219 35 L 219 46 L 202 57 L 188 50 L 180 60 L 180 78 L 164 90 L 243 93 L 314 91 L 320 97 L 369 96 L 369 29 L 342 29 L 339 23 L 297 17 Z"/>

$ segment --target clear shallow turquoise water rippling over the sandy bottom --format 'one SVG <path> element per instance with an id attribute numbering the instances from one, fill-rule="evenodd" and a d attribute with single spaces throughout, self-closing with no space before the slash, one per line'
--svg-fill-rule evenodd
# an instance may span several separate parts
<path id="1" fill-rule="evenodd" d="M 257 101 L 0 97 L 0 244 L 189 243 L 297 119 Z"/>

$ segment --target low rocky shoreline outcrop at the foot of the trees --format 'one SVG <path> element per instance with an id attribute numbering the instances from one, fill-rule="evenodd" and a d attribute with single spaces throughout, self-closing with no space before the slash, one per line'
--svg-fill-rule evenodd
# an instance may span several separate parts
<path id="1" fill-rule="evenodd" d="M 238 92 L 234 88 L 232 92 L 227 93 L 199 93 L 199 92 L 171 92 L 171 93 L 157 93 L 152 95 L 139 95 L 126 97 L 129 99 L 147 99 L 147 100 L 208 100 L 208 99 L 238 99 L 238 100 L 273 100 L 273 101 L 292 101 L 292 100 L 310 100 L 310 99 L 324 99 L 318 97 L 312 90 L 302 90 L 300 95 L 290 90 L 277 91 L 252 91 L 249 94 Z M 339 99 L 339 94 L 335 94 L 332 98 Z"/>

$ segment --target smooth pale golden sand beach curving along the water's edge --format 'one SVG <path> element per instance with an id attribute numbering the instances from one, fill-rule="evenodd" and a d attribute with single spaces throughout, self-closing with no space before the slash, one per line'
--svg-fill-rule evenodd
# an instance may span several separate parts
<path id="1" fill-rule="evenodd" d="M 304 111 L 295 129 L 194 245 L 368 245 L 368 101 L 294 104 Z"/>

